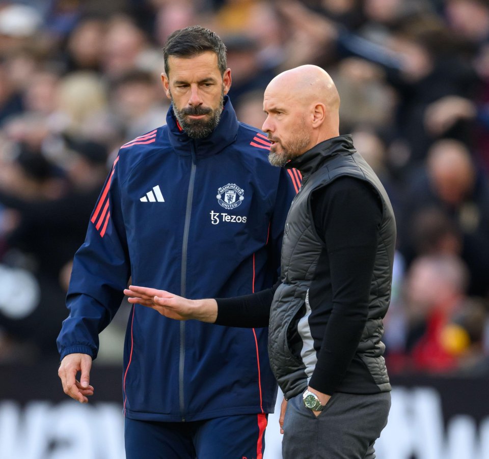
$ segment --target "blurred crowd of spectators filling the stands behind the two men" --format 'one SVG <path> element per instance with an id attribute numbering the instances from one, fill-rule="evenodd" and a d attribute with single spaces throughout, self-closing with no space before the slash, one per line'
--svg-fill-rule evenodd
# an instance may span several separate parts
<path id="1" fill-rule="evenodd" d="M 489 374 L 489 0 L 0 0 L 0 362 L 57 356 L 73 254 L 119 146 L 165 124 L 161 46 L 192 24 L 227 45 L 240 121 L 283 70 L 335 80 L 397 218 L 391 374 Z"/>

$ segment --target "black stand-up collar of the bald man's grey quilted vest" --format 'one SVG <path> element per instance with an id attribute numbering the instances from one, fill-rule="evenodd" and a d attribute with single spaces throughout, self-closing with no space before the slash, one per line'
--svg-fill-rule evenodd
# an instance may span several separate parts
<path id="1" fill-rule="evenodd" d="M 289 161 L 287 169 L 296 168 L 301 171 L 303 181 L 307 180 L 316 170 L 335 155 L 351 155 L 355 152 L 351 134 L 339 135 L 320 142 L 301 156 Z"/>

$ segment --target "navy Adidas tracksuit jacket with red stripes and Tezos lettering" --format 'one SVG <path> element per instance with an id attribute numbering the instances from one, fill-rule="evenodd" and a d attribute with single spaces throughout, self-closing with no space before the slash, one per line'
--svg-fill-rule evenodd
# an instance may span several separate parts
<path id="1" fill-rule="evenodd" d="M 266 136 L 229 101 L 191 139 L 167 125 L 123 145 L 74 257 L 58 347 L 96 357 L 131 276 L 187 298 L 228 297 L 277 278 L 285 218 L 300 179 L 268 163 Z M 124 306 L 126 307 L 126 306 Z M 127 417 L 192 421 L 273 412 L 267 329 L 178 322 L 134 305 L 124 346 Z"/>

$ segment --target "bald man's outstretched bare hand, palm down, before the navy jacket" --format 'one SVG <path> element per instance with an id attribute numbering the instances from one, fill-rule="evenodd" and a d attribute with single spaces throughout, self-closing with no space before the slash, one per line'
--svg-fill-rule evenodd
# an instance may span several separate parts
<path id="1" fill-rule="evenodd" d="M 124 289 L 129 303 L 141 304 L 170 319 L 195 319 L 213 324 L 218 317 L 218 303 L 214 299 L 187 300 L 164 290 L 129 285 Z"/>

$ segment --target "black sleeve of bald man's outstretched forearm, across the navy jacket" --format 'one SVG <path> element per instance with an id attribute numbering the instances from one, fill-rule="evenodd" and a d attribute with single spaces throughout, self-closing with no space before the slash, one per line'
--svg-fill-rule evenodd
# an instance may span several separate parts
<path id="1" fill-rule="evenodd" d="M 279 285 L 280 280 L 270 289 L 252 293 L 251 295 L 216 298 L 218 318 L 214 323 L 241 328 L 268 327 L 271 302 Z"/>

